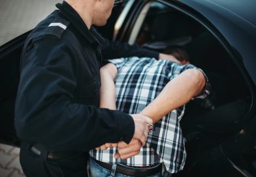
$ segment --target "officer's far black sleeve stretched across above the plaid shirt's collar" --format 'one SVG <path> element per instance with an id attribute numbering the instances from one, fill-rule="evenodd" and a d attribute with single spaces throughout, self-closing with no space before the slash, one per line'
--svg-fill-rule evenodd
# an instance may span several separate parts
<path id="1" fill-rule="evenodd" d="M 120 57 L 152 57 L 158 59 L 159 53 L 156 51 L 151 51 L 141 46 L 129 45 L 123 42 L 110 42 L 109 40 L 104 40 L 103 42 L 103 60 L 117 59 Z"/>

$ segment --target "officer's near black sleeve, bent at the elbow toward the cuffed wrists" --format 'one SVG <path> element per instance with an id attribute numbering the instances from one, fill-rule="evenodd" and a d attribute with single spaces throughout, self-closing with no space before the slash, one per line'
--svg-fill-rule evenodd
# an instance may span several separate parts
<path id="1" fill-rule="evenodd" d="M 76 55 L 67 45 L 46 38 L 25 53 L 15 107 L 18 137 L 48 150 L 86 151 L 108 142 L 129 143 L 135 131 L 131 116 L 71 102 Z"/>

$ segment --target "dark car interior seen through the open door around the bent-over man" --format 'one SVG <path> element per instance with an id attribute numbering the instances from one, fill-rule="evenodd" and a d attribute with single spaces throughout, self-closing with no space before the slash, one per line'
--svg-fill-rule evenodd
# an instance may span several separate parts
<path id="1" fill-rule="evenodd" d="M 251 104 L 250 90 L 216 36 L 187 14 L 157 1 L 144 5 L 133 24 L 127 28 L 129 44 L 159 52 L 185 49 L 191 64 L 208 77 L 210 95 L 187 103 L 181 120 L 189 149 L 211 148 L 240 131 Z"/>

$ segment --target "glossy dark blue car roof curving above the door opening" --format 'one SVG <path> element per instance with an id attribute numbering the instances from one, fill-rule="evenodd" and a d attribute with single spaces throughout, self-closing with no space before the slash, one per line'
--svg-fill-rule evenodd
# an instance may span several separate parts
<path id="1" fill-rule="evenodd" d="M 241 57 L 251 79 L 256 84 L 256 70 L 252 64 L 255 63 L 256 56 L 256 16 L 253 15 L 256 2 L 220 0 L 181 2 L 203 14 L 216 27 L 238 52 L 240 56 L 236 57 Z"/>

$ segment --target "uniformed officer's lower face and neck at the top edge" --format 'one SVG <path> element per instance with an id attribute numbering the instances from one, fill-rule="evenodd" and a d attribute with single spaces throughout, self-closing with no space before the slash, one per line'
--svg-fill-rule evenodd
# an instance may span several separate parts
<path id="1" fill-rule="evenodd" d="M 81 16 L 87 27 L 103 26 L 110 17 L 114 0 L 65 0 Z"/>

